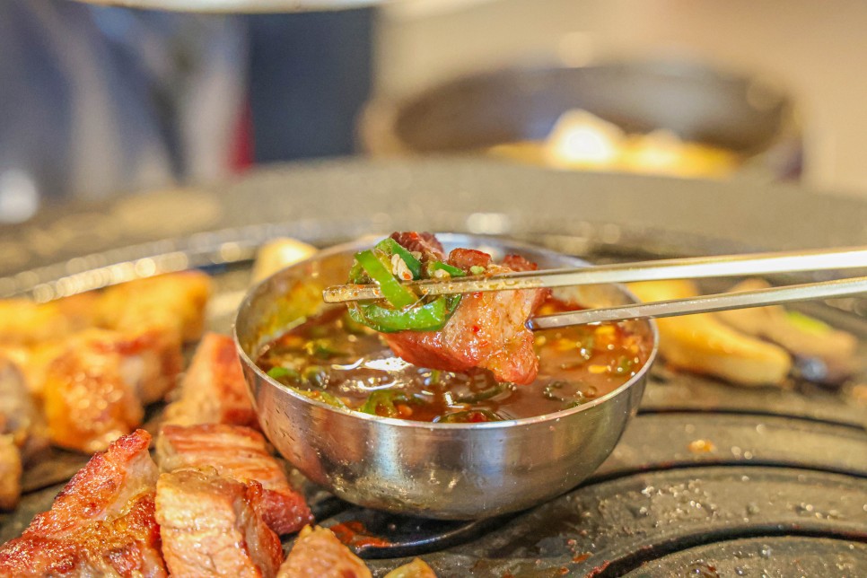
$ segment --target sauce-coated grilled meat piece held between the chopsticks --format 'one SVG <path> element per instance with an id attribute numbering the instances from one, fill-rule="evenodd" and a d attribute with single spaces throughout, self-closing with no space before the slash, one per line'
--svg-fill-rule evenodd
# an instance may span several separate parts
<path id="1" fill-rule="evenodd" d="M 396 234 L 392 238 L 400 242 L 413 233 Z M 451 251 L 449 264 L 467 272 L 470 267 L 486 267 L 490 275 L 536 268 L 513 255 L 503 265 L 492 265 L 490 259 L 482 251 L 456 249 Z M 439 331 L 398 331 L 382 337 L 395 355 L 409 363 L 451 372 L 482 367 L 494 373 L 497 381 L 530 383 L 539 372 L 539 357 L 525 323 L 547 294 L 544 289 L 465 294 Z"/>

